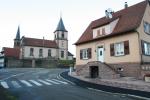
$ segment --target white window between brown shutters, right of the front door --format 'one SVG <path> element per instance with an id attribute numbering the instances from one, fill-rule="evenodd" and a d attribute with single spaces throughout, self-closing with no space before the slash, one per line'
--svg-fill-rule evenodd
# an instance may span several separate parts
<path id="1" fill-rule="evenodd" d="M 114 44 L 115 56 L 123 56 L 124 52 L 124 42 Z"/>

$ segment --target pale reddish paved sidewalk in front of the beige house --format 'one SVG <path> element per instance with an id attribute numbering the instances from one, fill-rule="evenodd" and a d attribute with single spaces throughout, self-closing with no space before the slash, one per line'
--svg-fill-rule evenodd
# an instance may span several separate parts
<path id="1" fill-rule="evenodd" d="M 136 80 L 131 77 L 122 77 L 119 79 L 100 79 L 100 78 L 92 79 L 77 76 L 75 72 L 72 72 L 70 76 L 90 83 L 150 92 L 150 83 L 144 82 L 143 80 Z"/>

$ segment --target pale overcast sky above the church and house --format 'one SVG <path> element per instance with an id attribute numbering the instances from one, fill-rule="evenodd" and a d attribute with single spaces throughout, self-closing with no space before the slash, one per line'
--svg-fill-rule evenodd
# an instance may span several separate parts
<path id="1" fill-rule="evenodd" d="M 143 0 L 0 0 L 0 50 L 13 47 L 17 27 L 21 36 L 54 39 L 60 15 L 68 30 L 69 51 L 93 20 L 105 16 L 105 10 L 118 11 L 124 2 L 131 6 Z"/>

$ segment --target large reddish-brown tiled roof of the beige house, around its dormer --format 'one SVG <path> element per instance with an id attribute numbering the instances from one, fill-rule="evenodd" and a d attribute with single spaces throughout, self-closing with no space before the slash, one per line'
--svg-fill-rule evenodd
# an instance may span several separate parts
<path id="1" fill-rule="evenodd" d="M 122 9 L 120 11 L 114 12 L 113 18 L 111 19 L 102 17 L 100 19 L 92 21 L 75 44 L 78 45 L 78 44 L 87 43 L 90 41 L 103 39 L 106 37 L 112 37 L 116 35 L 125 34 L 130 31 L 134 31 L 137 27 L 139 27 L 142 21 L 142 18 L 146 9 L 146 5 L 147 5 L 147 0 L 140 2 L 136 5 L 130 6 L 126 9 Z M 116 27 L 114 28 L 111 34 L 93 39 L 92 30 L 94 28 L 106 25 L 118 18 L 119 18 L 119 21 L 116 24 Z"/>

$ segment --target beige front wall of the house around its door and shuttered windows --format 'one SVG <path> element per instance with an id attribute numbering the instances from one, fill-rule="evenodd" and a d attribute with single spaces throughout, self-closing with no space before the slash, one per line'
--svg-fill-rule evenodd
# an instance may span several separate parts
<path id="1" fill-rule="evenodd" d="M 120 57 L 110 56 L 110 44 L 129 40 L 130 54 Z M 104 46 L 104 62 L 106 63 L 126 63 L 140 62 L 139 42 L 137 32 L 127 35 L 116 36 L 105 40 L 81 44 L 76 46 L 76 65 L 86 64 L 89 61 L 97 61 L 96 49 L 99 46 Z M 92 59 L 80 60 L 80 49 L 92 48 Z"/>

